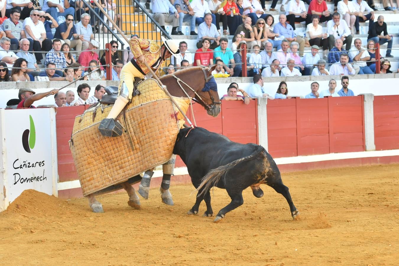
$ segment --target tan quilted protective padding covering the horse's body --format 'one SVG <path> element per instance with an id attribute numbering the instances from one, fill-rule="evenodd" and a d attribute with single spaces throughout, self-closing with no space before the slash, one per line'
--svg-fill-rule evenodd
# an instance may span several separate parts
<path id="1" fill-rule="evenodd" d="M 172 156 L 177 134 L 184 124 L 183 115 L 156 80 L 147 79 L 137 89 L 141 94 L 128 105 L 126 121 L 123 112 L 118 118 L 127 130 L 120 137 L 104 137 L 98 130 L 112 105 L 99 103 L 75 118 L 70 146 L 84 196 L 117 190 L 120 187 L 102 191 L 162 165 Z M 190 99 L 174 99 L 186 112 Z"/>

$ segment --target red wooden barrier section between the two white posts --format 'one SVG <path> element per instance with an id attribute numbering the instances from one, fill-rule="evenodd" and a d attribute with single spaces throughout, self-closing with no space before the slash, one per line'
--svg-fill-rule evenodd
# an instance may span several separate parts
<path id="1" fill-rule="evenodd" d="M 269 100 L 267 130 L 274 158 L 364 151 L 363 96 Z"/>

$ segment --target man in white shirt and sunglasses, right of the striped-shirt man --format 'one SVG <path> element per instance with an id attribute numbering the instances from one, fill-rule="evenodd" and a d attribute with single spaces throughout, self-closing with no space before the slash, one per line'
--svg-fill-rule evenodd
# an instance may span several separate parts
<path id="1" fill-rule="evenodd" d="M 53 43 L 47 39 L 46 30 L 43 22 L 39 20 L 39 11 L 34 9 L 30 12 L 30 17 L 24 20 L 24 31 L 26 39 L 29 40 L 29 51 L 50 51 Z M 37 61 L 43 59 L 41 53 L 35 53 Z"/>

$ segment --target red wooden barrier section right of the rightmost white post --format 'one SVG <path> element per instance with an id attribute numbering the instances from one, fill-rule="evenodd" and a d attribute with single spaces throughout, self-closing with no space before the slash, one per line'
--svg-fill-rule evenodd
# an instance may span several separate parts
<path id="1" fill-rule="evenodd" d="M 374 96 L 375 150 L 399 149 L 399 95 Z"/>

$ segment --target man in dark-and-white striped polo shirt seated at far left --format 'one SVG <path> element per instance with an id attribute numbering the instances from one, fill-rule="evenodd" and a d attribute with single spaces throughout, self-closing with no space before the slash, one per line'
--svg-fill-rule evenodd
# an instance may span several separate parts
<path id="1" fill-rule="evenodd" d="M 4 20 L 1 25 L 2 30 L 6 32 L 6 37 L 11 40 L 10 50 L 18 49 L 18 42 L 22 38 L 26 38 L 24 26 L 20 22 L 21 11 L 18 8 L 11 10 L 10 18 Z"/>

